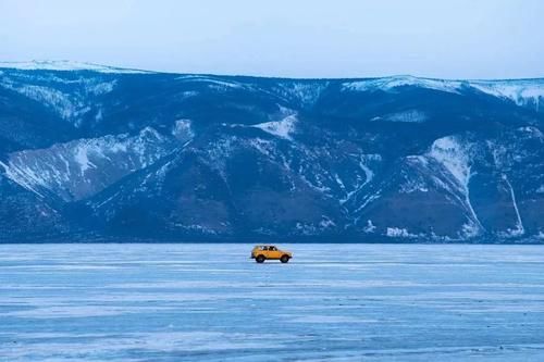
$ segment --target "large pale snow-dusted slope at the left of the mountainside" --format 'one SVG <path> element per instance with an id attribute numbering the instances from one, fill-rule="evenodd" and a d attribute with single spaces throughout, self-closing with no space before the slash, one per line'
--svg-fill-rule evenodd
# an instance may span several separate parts
<path id="1" fill-rule="evenodd" d="M 77 201 L 147 167 L 174 147 L 171 138 L 145 128 L 133 137 L 123 134 L 78 139 L 48 149 L 13 152 L 0 165 L 8 178 L 38 196 L 46 191 Z"/>

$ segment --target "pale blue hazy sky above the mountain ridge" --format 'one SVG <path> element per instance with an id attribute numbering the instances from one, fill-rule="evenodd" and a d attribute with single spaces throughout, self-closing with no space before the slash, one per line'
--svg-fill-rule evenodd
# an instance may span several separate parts
<path id="1" fill-rule="evenodd" d="M 0 0 L 0 61 L 287 77 L 544 77 L 544 0 Z"/>

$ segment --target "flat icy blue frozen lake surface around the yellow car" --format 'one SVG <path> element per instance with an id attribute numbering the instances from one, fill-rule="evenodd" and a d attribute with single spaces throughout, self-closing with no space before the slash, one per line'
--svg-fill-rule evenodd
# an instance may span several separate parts
<path id="1" fill-rule="evenodd" d="M 0 361 L 544 361 L 544 247 L 2 245 Z"/>

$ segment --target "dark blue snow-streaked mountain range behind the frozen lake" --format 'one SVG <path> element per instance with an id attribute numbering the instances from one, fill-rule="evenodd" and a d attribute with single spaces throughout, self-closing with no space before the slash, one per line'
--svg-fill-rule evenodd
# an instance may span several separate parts
<path id="1" fill-rule="evenodd" d="M 544 242 L 544 79 L 1 66 L 2 242 Z"/>

